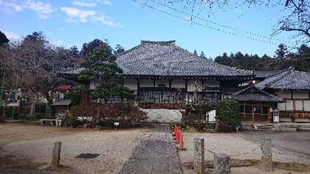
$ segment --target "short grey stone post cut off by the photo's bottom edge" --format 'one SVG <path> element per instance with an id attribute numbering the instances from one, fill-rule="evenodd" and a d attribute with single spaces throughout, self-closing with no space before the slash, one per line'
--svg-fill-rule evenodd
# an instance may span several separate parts
<path id="1" fill-rule="evenodd" d="M 214 154 L 214 174 L 231 174 L 231 157 Z"/>

